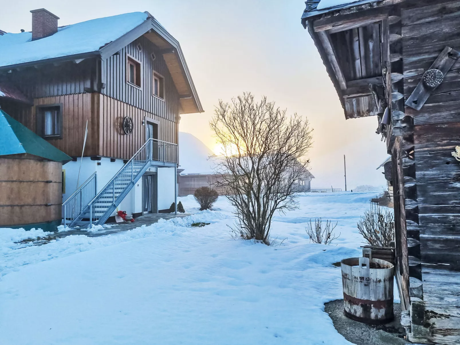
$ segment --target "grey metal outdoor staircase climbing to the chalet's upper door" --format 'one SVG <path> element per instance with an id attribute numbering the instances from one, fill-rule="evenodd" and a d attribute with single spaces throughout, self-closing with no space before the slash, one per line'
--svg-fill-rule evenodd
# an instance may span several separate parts
<path id="1" fill-rule="evenodd" d="M 79 208 L 78 214 L 73 212 L 70 217 L 64 214 L 64 223 L 69 227 L 104 224 L 154 161 L 177 163 L 177 158 L 177 144 L 150 138 L 96 196 Z M 71 197 L 78 198 L 78 195 L 77 190 Z M 69 199 L 64 204 L 71 205 Z"/>

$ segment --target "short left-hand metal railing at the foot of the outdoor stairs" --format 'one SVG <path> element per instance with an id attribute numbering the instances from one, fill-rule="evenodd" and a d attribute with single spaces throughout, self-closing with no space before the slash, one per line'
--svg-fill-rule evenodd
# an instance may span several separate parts
<path id="1" fill-rule="evenodd" d="M 94 172 L 75 192 L 62 204 L 63 224 L 72 221 L 83 212 L 84 208 L 98 192 L 98 176 Z"/>

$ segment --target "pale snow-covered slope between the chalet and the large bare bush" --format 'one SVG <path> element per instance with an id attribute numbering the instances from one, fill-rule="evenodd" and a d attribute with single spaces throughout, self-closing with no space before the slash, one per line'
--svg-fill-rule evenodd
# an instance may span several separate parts
<path id="1" fill-rule="evenodd" d="M 179 132 L 179 169 L 184 169 L 181 175 L 210 174 L 211 161 L 208 157 L 213 154 L 200 139 L 185 132 Z"/>

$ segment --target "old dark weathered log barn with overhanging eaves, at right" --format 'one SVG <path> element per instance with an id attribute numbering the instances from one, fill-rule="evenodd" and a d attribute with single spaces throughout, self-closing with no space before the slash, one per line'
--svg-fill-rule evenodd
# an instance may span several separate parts
<path id="1" fill-rule="evenodd" d="M 460 344 L 460 1 L 309 0 L 301 21 L 345 117 L 375 116 L 391 154 L 408 339 Z"/>

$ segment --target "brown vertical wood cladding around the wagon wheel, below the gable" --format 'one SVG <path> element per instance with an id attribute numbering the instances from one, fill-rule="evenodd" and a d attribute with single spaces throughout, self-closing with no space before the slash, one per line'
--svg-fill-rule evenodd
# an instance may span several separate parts
<path id="1" fill-rule="evenodd" d="M 105 157 L 130 159 L 145 142 L 145 117 L 158 121 L 158 139 L 175 142 L 177 127 L 173 120 L 149 113 L 118 99 L 100 95 L 100 134 L 99 155 Z M 132 134 L 124 134 L 121 123 L 125 116 L 132 118 Z"/>

